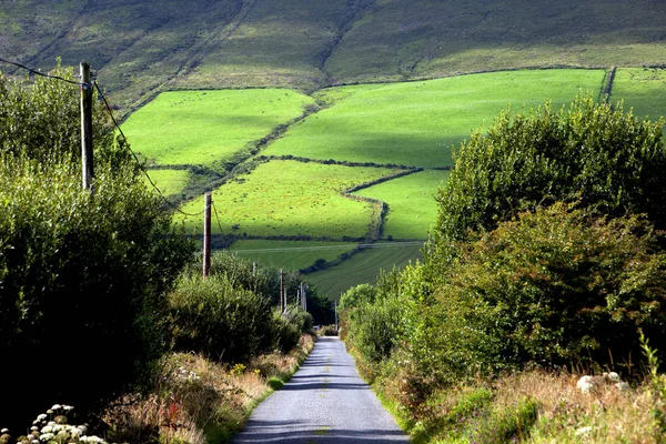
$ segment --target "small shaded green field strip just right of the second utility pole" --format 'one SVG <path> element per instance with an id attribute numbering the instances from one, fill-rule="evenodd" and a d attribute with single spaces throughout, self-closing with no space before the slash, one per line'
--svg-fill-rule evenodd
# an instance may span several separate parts
<path id="1" fill-rule="evenodd" d="M 333 261 L 355 246 L 354 243 L 342 242 L 240 240 L 231 245 L 230 251 L 263 266 L 297 271 L 319 259 Z"/>

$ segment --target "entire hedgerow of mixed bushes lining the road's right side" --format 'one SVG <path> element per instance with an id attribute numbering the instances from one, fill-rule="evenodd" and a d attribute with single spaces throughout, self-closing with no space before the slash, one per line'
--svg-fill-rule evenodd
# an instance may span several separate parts
<path id="1" fill-rule="evenodd" d="M 639 330 L 666 340 L 663 127 L 578 98 L 502 113 L 461 145 L 424 263 L 341 301 L 359 369 L 417 435 L 526 438 L 531 397 L 497 414 L 484 397 L 470 421 L 441 405 L 532 367 L 630 374 Z"/>

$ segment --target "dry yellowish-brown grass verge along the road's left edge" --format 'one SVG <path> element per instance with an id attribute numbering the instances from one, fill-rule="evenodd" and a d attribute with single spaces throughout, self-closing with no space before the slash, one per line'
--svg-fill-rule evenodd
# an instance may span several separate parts
<path id="1" fill-rule="evenodd" d="M 124 396 L 107 411 L 110 442 L 223 443 L 241 427 L 268 381 L 289 379 L 314 347 L 310 335 L 287 354 L 259 356 L 229 367 L 199 354 L 174 353 L 148 395 Z"/>

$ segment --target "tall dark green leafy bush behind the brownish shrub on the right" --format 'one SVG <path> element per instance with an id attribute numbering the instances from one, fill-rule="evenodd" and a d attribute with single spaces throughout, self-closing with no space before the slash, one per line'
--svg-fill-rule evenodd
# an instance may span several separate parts
<path id="1" fill-rule="evenodd" d="M 664 120 L 639 122 L 615 108 L 577 98 L 568 109 L 546 103 L 532 113 L 502 112 L 486 134 L 474 132 L 455 152 L 455 169 L 437 195 L 428 253 L 470 231 L 490 231 L 519 211 L 579 200 L 607 214 L 646 213 L 666 228 Z"/>

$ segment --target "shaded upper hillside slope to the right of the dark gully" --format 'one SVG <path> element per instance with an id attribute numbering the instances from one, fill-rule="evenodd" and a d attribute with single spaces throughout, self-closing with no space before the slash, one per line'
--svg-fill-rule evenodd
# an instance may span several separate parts
<path id="1" fill-rule="evenodd" d="M 654 0 L 384 0 L 329 62 L 337 82 L 524 67 L 664 64 Z"/>

